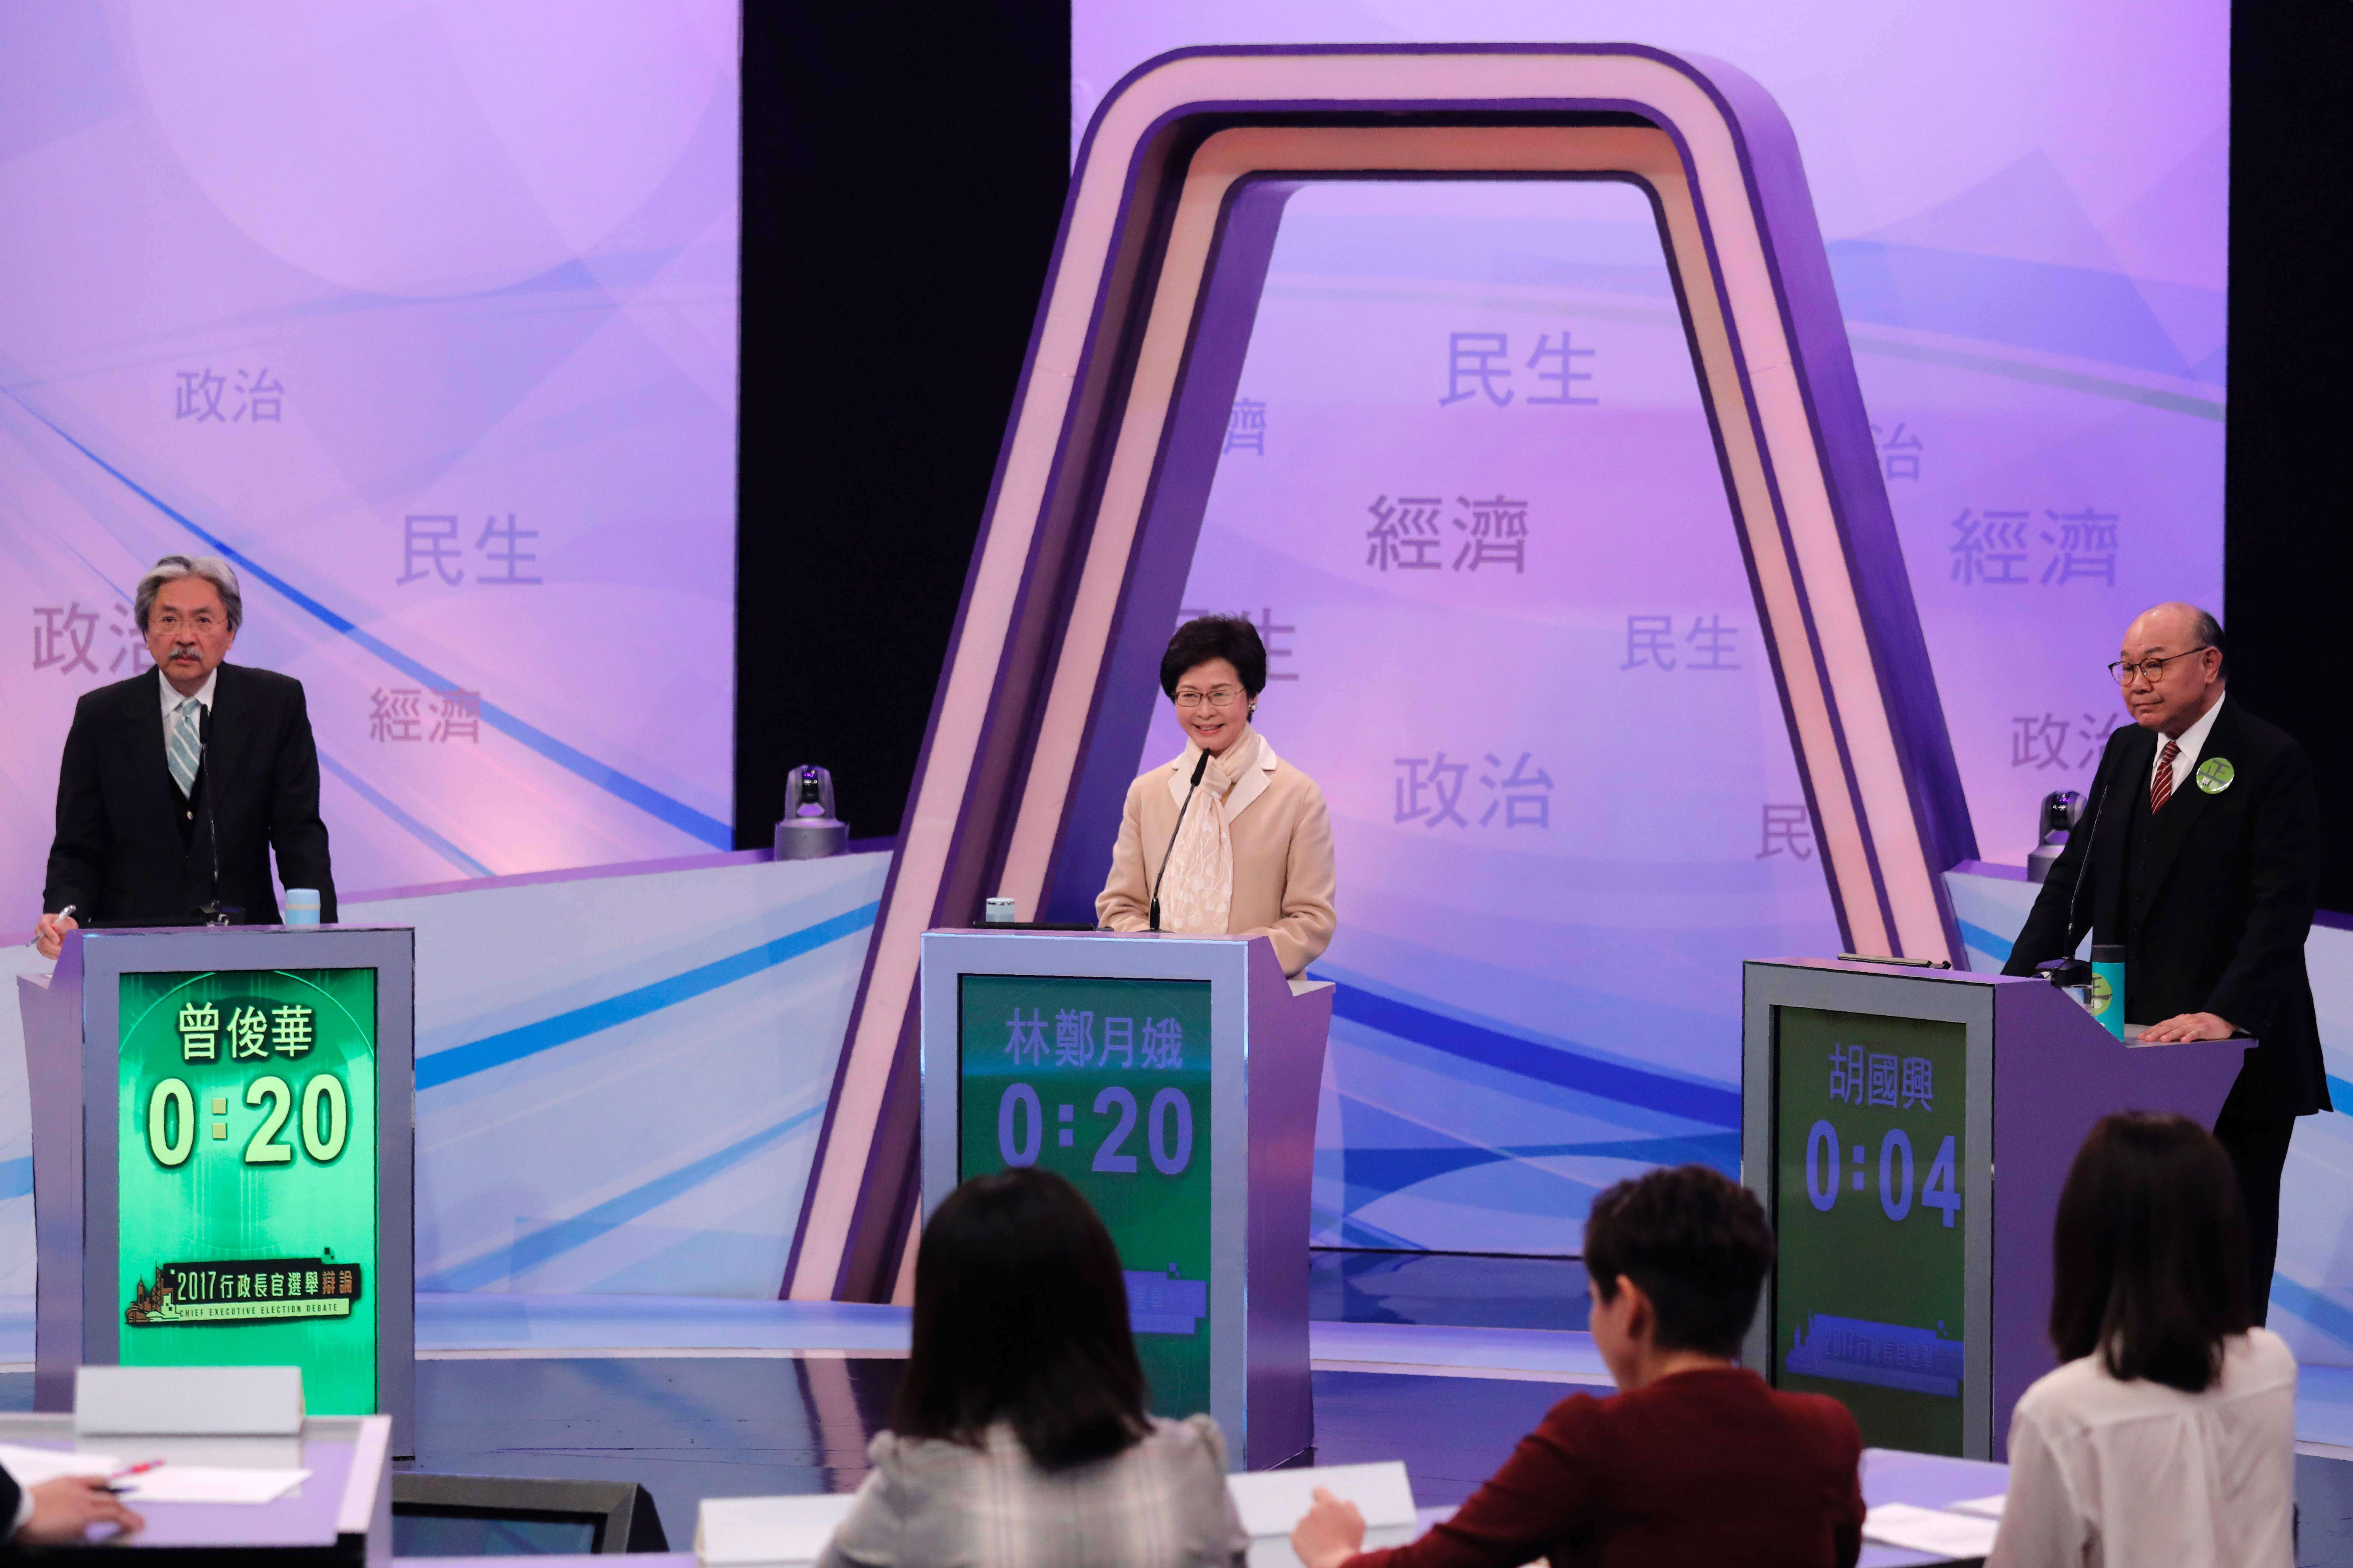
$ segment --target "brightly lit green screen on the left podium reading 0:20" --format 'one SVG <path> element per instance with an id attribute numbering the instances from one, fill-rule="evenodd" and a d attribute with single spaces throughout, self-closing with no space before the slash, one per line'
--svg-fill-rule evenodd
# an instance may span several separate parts
<path id="1" fill-rule="evenodd" d="M 376 1410 L 376 971 L 122 976 L 125 1366 L 299 1366 Z"/>

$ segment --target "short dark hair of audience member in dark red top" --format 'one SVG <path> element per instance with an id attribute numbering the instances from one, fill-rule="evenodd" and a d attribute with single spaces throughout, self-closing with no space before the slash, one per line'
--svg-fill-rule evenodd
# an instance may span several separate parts
<path id="1" fill-rule="evenodd" d="M 1631 1279 L 1659 1314 L 1659 1349 L 1741 1354 L 1758 1314 L 1772 1227 L 1755 1194 L 1708 1166 L 1649 1171 L 1609 1187 L 1586 1215 L 1586 1274 L 1617 1300 Z"/>

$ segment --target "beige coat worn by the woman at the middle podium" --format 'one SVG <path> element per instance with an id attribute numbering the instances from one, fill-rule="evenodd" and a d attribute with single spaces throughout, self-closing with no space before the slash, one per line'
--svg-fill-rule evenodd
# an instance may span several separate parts
<path id="1" fill-rule="evenodd" d="M 1151 931 L 1153 879 L 1176 832 L 1186 783 L 1200 748 L 1127 785 L 1111 882 L 1094 917 L 1113 931 Z M 1202 802 L 1193 802 L 1198 811 Z M 1233 912 L 1226 931 L 1268 936 L 1282 973 L 1297 976 L 1332 945 L 1332 813 L 1315 780 L 1275 757 L 1259 736 L 1259 766 L 1226 802 L 1233 823 Z"/>

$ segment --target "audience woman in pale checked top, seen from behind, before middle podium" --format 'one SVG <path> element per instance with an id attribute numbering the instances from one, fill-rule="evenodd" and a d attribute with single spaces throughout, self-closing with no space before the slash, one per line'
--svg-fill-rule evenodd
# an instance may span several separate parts
<path id="1" fill-rule="evenodd" d="M 915 1342 L 819 1568 L 1242 1563 L 1217 1422 L 1144 1413 L 1111 1232 L 1052 1171 L 976 1175 L 915 1251 Z"/>

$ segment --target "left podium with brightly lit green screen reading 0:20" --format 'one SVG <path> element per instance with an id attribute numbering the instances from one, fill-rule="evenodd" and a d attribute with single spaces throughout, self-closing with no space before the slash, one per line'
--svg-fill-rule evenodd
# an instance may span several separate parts
<path id="1" fill-rule="evenodd" d="M 73 931 L 19 976 L 33 1408 L 73 1368 L 301 1366 L 414 1453 L 414 931 Z"/>

